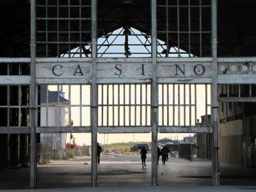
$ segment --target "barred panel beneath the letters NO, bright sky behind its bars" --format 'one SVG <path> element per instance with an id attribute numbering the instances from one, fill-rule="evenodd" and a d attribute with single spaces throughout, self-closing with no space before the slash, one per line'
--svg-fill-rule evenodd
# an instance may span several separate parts
<path id="1" fill-rule="evenodd" d="M 211 114 L 210 84 L 159 84 L 159 125 L 195 126 Z"/>

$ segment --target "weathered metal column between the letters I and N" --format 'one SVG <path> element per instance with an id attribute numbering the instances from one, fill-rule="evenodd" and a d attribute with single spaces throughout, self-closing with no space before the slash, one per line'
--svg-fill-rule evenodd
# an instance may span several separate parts
<path id="1" fill-rule="evenodd" d="M 151 1 L 151 29 L 152 29 L 152 186 L 157 185 L 157 125 L 158 125 L 158 89 L 157 89 L 157 28 L 156 28 L 156 0 Z"/>

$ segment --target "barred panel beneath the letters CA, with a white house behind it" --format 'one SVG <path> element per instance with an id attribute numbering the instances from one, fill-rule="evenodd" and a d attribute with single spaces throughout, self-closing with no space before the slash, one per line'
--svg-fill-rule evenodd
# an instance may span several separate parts
<path id="1" fill-rule="evenodd" d="M 90 85 L 38 86 L 38 126 L 90 126 Z"/>

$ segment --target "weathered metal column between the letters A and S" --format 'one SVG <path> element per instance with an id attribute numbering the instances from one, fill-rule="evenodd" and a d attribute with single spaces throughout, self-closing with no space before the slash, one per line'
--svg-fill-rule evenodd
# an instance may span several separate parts
<path id="1" fill-rule="evenodd" d="M 91 126 L 92 126 L 92 187 L 97 186 L 97 0 L 92 0 L 92 84 L 91 84 Z"/>

